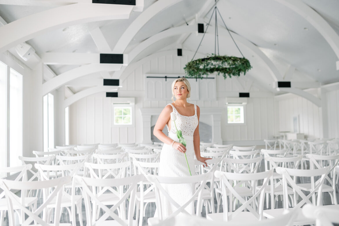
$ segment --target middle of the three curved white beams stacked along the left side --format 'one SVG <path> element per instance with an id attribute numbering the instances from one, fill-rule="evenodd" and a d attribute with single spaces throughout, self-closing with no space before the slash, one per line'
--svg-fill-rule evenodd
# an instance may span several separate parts
<path id="1" fill-rule="evenodd" d="M 73 79 L 101 71 L 117 71 L 122 64 L 92 63 L 62 73 L 42 84 L 42 96 L 63 86 Z"/>

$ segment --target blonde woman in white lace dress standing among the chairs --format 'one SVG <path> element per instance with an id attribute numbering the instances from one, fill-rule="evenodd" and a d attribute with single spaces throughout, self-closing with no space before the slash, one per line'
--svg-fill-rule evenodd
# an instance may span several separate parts
<path id="1" fill-rule="evenodd" d="M 172 101 L 162 110 L 154 127 L 153 134 L 164 143 L 160 154 L 159 176 L 190 176 L 188 165 L 192 175 L 195 174 L 194 155 L 200 161 L 206 164 L 206 160 L 200 156 L 200 136 L 199 136 L 199 116 L 198 106 L 188 103 L 191 86 L 186 78 L 177 78 L 172 83 Z M 176 100 L 174 101 L 174 97 Z M 171 113 L 176 116 L 175 124 L 171 119 Z M 168 136 L 162 130 L 167 126 Z M 186 147 L 179 143 L 176 135 L 176 128 L 181 130 L 183 138 L 186 140 Z M 187 157 L 187 162 L 185 154 Z M 166 192 L 178 204 L 187 202 L 194 193 L 192 184 L 167 184 Z M 176 208 L 167 200 L 162 199 L 162 219 L 170 215 Z M 194 214 L 194 203 L 187 206 L 185 210 Z"/>

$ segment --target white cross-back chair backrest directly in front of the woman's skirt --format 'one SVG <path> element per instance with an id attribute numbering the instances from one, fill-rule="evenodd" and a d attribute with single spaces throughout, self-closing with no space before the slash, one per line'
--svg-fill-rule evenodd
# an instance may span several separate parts
<path id="1" fill-rule="evenodd" d="M 197 198 L 197 215 L 200 215 L 200 207 L 202 205 L 201 200 L 201 193 L 204 189 L 204 186 L 206 184 L 206 181 L 212 177 L 211 172 L 204 173 L 201 175 L 193 175 L 193 176 L 182 176 L 182 177 L 164 177 L 164 176 L 155 176 L 155 175 L 146 175 L 146 178 L 148 181 L 152 182 L 155 185 L 155 191 L 156 191 L 156 205 L 158 209 L 158 218 L 159 220 L 164 220 L 162 216 L 162 208 L 163 205 L 160 199 L 160 194 L 162 194 L 165 199 L 168 200 L 171 205 L 174 206 L 174 211 L 168 216 L 168 218 L 174 217 L 178 215 L 179 213 L 186 213 L 189 214 L 185 207 L 189 204 L 195 202 L 195 199 Z M 166 187 L 166 184 L 192 184 L 197 185 L 197 189 L 195 190 L 192 197 L 187 197 L 186 203 L 180 205 L 178 204 L 173 197 L 171 197 L 167 191 L 164 189 Z"/>

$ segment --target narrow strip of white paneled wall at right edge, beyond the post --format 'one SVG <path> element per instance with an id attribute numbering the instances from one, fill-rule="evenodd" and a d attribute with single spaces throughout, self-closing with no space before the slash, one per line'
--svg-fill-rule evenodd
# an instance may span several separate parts
<path id="1" fill-rule="evenodd" d="M 328 137 L 339 138 L 339 90 L 326 93 Z"/>

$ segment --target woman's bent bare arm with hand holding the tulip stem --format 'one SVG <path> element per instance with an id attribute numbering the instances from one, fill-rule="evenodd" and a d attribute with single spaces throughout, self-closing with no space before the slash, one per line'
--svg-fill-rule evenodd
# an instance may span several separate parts
<path id="1" fill-rule="evenodd" d="M 159 115 L 159 118 L 157 120 L 157 123 L 154 126 L 153 134 L 156 136 L 161 142 L 164 144 L 171 145 L 174 149 L 184 153 L 186 152 L 186 147 L 179 143 L 179 142 L 174 142 L 171 138 L 166 136 L 162 130 L 164 129 L 165 125 L 168 123 L 168 121 L 171 119 L 171 112 L 173 111 L 171 105 L 167 105 L 162 112 Z"/>

